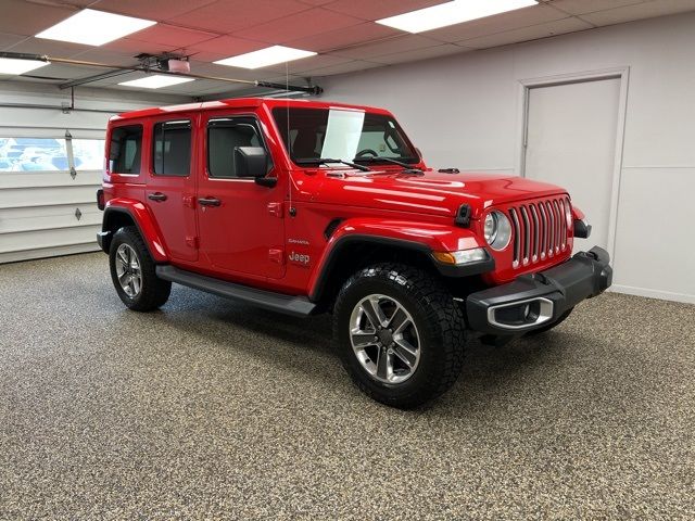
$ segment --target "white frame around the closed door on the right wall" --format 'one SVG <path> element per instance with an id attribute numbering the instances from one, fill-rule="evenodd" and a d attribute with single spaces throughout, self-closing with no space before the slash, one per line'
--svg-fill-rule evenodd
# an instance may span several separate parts
<path id="1" fill-rule="evenodd" d="M 580 73 L 558 74 L 538 78 L 520 79 L 518 85 L 518 117 L 517 117 L 517 153 L 515 173 L 526 177 L 526 148 L 529 124 L 529 94 L 536 87 L 554 87 L 570 84 L 599 81 L 602 79 L 619 79 L 620 94 L 618 98 L 618 125 L 616 128 L 616 150 L 614 154 L 612 179 L 610 189 L 610 209 L 608 215 L 608 253 L 615 263 L 616 231 L 618 227 L 618 203 L 620 199 L 620 177 L 622 173 L 622 152 L 624 145 L 626 114 L 628 112 L 628 87 L 630 84 L 630 67 L 603 68 Z M 591 223 L 591 216 L 587 219 Z"/>

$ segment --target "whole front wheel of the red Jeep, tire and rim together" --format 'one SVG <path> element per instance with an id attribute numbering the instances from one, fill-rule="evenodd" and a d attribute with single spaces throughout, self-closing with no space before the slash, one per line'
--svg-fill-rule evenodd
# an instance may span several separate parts
<path id="1" fill-rule="evenodd" d="M 463 366 L 460 309 L 438 279 L 405 265 L 370 266 L 344 283 L 333 338 L 355 384 L 392 407 L 443 394 Z"/>

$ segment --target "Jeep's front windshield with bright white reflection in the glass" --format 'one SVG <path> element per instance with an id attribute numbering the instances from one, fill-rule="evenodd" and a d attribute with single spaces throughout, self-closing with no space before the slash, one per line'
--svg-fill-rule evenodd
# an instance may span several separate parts
<path id="1" fill-rule="evenodd" d="M 390 116 L 351 109 L 298 107 L 276 107 L 273 115 L 296 163 L 326 157 L 354 163 L 419 163 L 417 152 Z"/>

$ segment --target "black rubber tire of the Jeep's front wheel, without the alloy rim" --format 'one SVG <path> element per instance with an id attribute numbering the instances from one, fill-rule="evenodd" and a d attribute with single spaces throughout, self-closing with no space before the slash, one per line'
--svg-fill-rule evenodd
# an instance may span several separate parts
<path id="1" fill-rule="evenodd" d="M 419 332 L 419 364 L 404 382 L 379 381 L 367 372 L 353 350 L 353 309 L 371 294 L 396 300 L 410 314 Z M 465 322 L 452 294 L 435 277 L 402 264 L 378 264 L 359 270 L 343 284 L 333 309 L 333 341 L 357 387 L 377 402 L 408 409 L 440 396 L 458 378 Z"/>

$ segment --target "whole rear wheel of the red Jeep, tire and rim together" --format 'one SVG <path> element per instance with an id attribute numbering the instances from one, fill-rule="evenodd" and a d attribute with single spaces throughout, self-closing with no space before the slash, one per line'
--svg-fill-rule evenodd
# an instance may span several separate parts
<path id="1" fill-rule="evenodd" d="M 137 228 L 116 231 L 109 250 L 109 266 L 116 293 L 129 309 L 151 312 L 168 300 L 172 282 L 155 275 L 154 259 Z"/>

